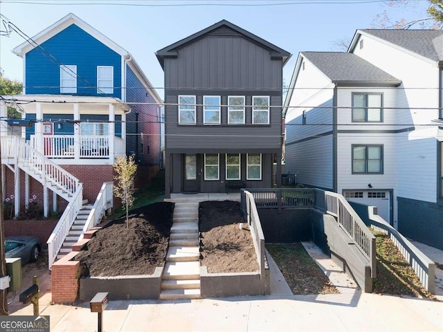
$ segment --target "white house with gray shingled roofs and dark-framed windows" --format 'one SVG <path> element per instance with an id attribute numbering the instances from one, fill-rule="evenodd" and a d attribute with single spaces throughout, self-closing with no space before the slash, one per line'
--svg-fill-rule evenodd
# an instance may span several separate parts
<path id="1" fill-rule="evenodd" d="M 300 53 L 287 172 L 443 248 L 442 60 L 442 30 L 357 30 L 347 52 Z"/>

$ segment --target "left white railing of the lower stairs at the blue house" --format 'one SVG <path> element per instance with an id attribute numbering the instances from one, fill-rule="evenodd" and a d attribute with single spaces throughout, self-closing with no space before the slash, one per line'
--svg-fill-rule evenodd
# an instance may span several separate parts
<path id="1" fill-rule="evenodd" d="M 64 210 L 57 225 L 49 237 L 46 243 L 48 244 L 48 268 L 51 270 L 55 258 L 57 258 L 60 248 L 62 248 L 63 242 L 73 225 L 75 218 L 77 218 L 78 212 L 82 209 L 83 203 L 83 185 L 79 183 L 77 190 L 73 195 L 73 198 L 69 202 L 68 206 Z"/>

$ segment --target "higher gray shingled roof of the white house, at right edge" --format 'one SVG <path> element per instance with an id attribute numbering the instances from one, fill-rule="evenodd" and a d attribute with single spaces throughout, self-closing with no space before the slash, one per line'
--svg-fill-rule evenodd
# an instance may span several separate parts
<path id="1" fill-rule="evenodd" d="M 359 35 L 371 35 L 435 62 L 443 60 L 443 30 L 361 29 L 356 31 L 349 52 L 354 50 Z"/>

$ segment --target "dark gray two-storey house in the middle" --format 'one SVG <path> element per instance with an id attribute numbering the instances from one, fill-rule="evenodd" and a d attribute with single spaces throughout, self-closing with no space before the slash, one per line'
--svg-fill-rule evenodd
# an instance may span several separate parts
<path id="1" fill-rule="evenodd" d="M 226 183 L 279 186 L 291 54 L 223 20 L 156 56 L 165 72 L 166 197 L 225 192 Z"/>

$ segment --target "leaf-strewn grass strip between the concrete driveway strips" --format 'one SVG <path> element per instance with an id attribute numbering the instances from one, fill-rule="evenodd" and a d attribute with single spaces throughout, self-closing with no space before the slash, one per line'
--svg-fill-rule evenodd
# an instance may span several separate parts
<path id="1" fill-rule="evenodd" d="M 294 295 L 339 293 L 301 243 L 266 244 Z"/>

